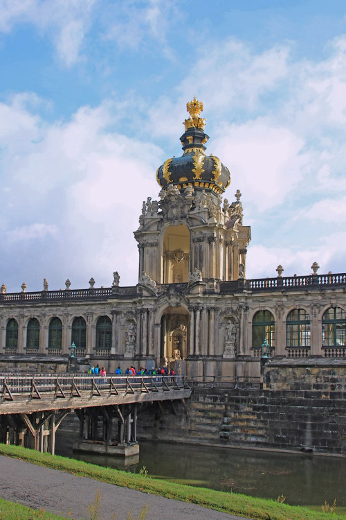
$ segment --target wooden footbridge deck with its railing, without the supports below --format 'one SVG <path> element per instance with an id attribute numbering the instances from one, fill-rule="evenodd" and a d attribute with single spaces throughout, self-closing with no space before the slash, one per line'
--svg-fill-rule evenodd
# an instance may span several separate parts
<path id="1" fill-rule="evenodd" d="M 1 374 L 0 415 L 186 399 L 183 376 Z"/>

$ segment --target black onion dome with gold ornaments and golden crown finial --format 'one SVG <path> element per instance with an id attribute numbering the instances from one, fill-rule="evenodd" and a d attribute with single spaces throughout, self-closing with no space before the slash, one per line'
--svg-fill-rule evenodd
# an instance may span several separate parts
<path id="1" fill-rule="evenodd" d="M 223 193 L 230 184 L 230 172 L 219 157 L 206 155 L 206 142 L 209 136 L 204 132 L 206 119 L 200 117 L 203 103 L 196 96 L 186 103 L 190 114 L 185 119 L 185 133 L 181 136 L 184 153 L 181 157 L 167 159 L 156 171 L 156 180 L 161 188 L 170 184 L 178 189 L 188 186 Z"/>

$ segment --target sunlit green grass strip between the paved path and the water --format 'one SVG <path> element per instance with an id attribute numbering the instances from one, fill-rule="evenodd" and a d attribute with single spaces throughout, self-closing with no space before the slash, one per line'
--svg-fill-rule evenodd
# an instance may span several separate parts
<path id="1" fill-rule="evenodd" d="M 104 468 L 80 460 L 51 456 L 49 453 L 39 453 L 17 446 L 0 444 L 0 455 L 20 458 L 37 465 L 68 471 L 77 476 L 90 477 L 109 484 L 139 489 L 142 492 L 158 494 L 168 499 L 197 503 L 206 508 L 242 517 L 260 520 L 326 520 L 327 517 L 332 517 L 333 520 L 346 519 L 345 516 L 335 513 L 325 514 L 322 511 L 315 512 L 299 506 L 280 504 L 252 496 L 166 482 L 150 478 L 150 476 Z M 143 496 L 143 505 L 144 503 L 145 496 Z"/>

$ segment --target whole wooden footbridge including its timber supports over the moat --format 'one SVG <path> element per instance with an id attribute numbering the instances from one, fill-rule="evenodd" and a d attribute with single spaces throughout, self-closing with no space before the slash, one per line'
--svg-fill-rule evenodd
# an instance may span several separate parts
<path id="1" fill-rule="evenodd" d="M 0 441 L 55 452 L 55 433 L 75 412 L 76 449 L 138 453 L 137 416 L 145 404 L 186 399 L 184 376 L 0 374 Z"/>

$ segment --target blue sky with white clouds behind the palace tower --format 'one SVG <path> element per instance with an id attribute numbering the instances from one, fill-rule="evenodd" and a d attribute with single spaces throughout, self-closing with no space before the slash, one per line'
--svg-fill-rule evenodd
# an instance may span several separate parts
<path id="1" fill-rule="evenodd" d="M 138 281 L 142 202 L 207 153 L 251 225 L 246 277 L 346 271 L 344 0 L 0 0 L 0 284 Z"/>

